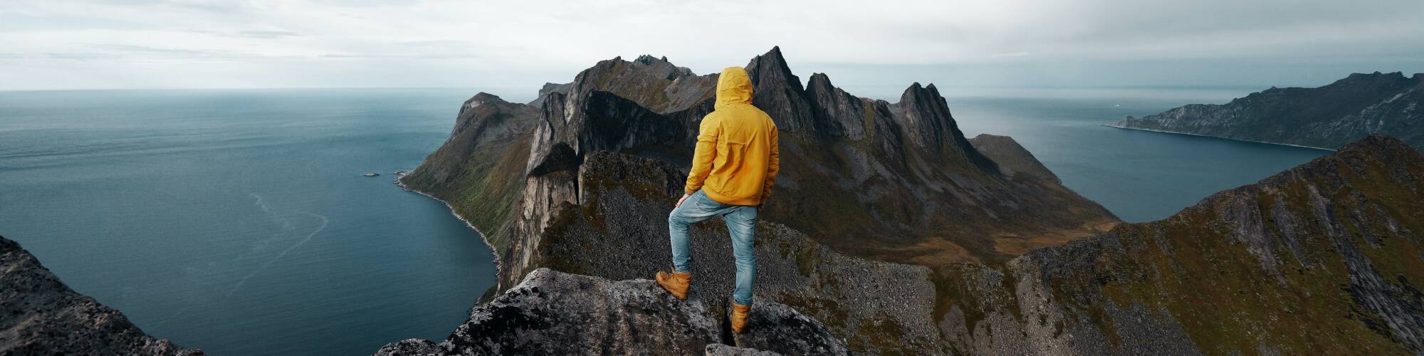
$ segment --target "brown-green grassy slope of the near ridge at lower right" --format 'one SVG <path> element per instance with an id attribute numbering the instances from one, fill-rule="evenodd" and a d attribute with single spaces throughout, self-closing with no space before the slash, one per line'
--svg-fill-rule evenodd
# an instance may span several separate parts
<path id="1" fill-rule="evenodd" d="M 1376 159 L 1357 172 L 1339 155 L 1320 159 L 1309 164 L 1314 171 L 1296 168 L 1260 185 L 1213 195 L 1168 219 L 1124 224 L 1108 232 L 1111 236 L 1084 241 L 1101 245 L 1099 253 L 1088 258 L 1092 268 L 1042 282 L 1055 300 L 1084 316 L 1079 322 L 1095 325 L 1112 343 L 1122 339 L 1105 309 L 1109 302 L 1165 313 L 1209 355 L 1257 355 L 1262 347 L 1283 355 L 1410 353 L 1393 339 L 1381 315 L 1356 295 L 1368 292 L 1353 286 L 1346 251 L 1358 251 L 1368 261 L 1371 271 L 1363 273 L 1387 281 L 1396 290 L 1386 292 L 1388 298 L 1418 308 L 1424 300 L 1415 285 L 1424 281 L 1424 239 L 1417 235 L 1424 231 L 1424 165 L 1417 157 L 1400 167 Z M 1390 169 L 1413 178 L 1398 179 Z M 1312 188 L 1331 206 L 1327 214 L 1341 228 L 1341 238 L 1327 235 L 1321 224 L 1329 222 L 1317 219 Z M 1250 244 L 1232 236 L 1243 215 L 1226 216 L 1229 209 L 1222 206 L 1243 198 L 1255 201 L 1253 214 L 1262 216 L 1269 251 L 1260 253 L 1270 256 L 1273 268 L 1263 265 Z M 1388 221 L 1397 222 L 1396 228 Z M 983 290 L 967 282 L 983 268 L 1014 276 L 1004 266 L 974 263 L 936 271 L 936 319 L 953 306 L 960 306 L 970 325 L 987 312 L 1002 312 L 981 310 Z M 1014 290 L 1015 285 L 1005 279 L 1000 288 Z M 997 295 L 1014 298 L 1012 292 Z M 1007 303 L 1020 322 L 1031 322 L 1022 320 L 1017 306 L 1017 300 Z"/>

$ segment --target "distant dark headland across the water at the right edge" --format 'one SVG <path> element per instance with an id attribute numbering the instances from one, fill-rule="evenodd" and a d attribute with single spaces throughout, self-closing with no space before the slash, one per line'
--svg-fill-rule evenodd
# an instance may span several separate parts
<path id="1" fill-rule="evenodd" d="M 1424 74 L 1350 74 L 1319 88 L 1276 88 L 1192 104 L 1111 127 L 1340 148 L 1378 132 L 1424 148 Z"/>

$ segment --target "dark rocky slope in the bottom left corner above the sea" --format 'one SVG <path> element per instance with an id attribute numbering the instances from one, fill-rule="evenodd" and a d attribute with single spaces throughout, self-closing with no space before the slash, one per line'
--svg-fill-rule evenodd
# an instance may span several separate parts
<path id="1" fill-rule="evenodd" d="M 148 336 L 124 313 L 66 286 L 20 244 L 3 236 L 0 353 L 202 355 Z"/>

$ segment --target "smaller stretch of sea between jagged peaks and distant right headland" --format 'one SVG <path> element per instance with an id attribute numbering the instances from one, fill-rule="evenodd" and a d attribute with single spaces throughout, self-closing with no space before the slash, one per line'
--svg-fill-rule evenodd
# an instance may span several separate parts
<path id="1" fill-rule="evenodd" d="M 1064 185 L 1128 222 L 1163 219 L 1219 191 L 1330 154 L 1105 127 L 1185 104 L 1225 104 L 1255 87 L 950 88 L 965 137 L 1010 135 Z"/>

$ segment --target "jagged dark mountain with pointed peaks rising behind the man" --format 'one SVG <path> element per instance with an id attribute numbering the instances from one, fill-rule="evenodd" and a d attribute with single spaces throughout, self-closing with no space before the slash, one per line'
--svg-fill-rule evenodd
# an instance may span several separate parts
<path id="1" fill-rule="evenodd" d="M 802 87 L 779 48 L 746 68 L 753 104 L 782 131 L 782 175 L 765 221 L 856 256 L 921 265 L 1002 262 L 1118 222 L 1055 179 L 1007 175 L 964 138 L 933 84 L 910 85 L 899 103 L 850 95 L 826 74 Z M 715 83 L 716 74 L 642 56 L 545 85 L 538 107 L 481 93 L 402 184 L 449 202 L 511 263 L 551 221 L 550 206 L 575 202 L 577 187 L 544 177 L 571 162 L 560 157 L 611 151 L 686 171 Z M 501 275 L 506 288 L 521 276 Z"/>

